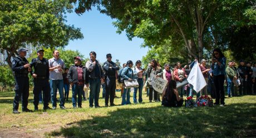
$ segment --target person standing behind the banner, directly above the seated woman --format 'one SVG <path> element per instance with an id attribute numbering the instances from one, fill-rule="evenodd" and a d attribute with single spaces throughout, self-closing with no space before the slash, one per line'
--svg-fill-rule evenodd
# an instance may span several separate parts
<path id="1" fill-rule="evenodd" d="M 180 83 L 183 82 L 184 79 L 188 78 L 188 75 L 186 75 L 186 71 L 184 68 L 181 67 L 180 62 L 177 62 L 174 69 L 174 79 L 176 81 L 179 81 Z M 184 87 L 181 86 L 179 89 L 180 96 L 183 97 Z"/>

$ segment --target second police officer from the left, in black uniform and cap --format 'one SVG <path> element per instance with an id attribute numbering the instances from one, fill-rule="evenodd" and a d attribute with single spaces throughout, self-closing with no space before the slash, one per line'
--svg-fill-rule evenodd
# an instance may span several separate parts
<path id="1" fill-rule="evenodd" d="M 46 58 L 43 58 L 44 55 L 43 49 L 37 50 L 37 58 L 32 59 L 31 61 L 31 75 L 34 78 L 34 105 L 35 111 L 38 110 L 39 104 L 39 94 L 43 91 L 43 110 L 51 109 L 48 105 L 50 100 L 50 84 L 49 80 L 49 64 Z M 35 69 L 35 71 L 32 70 Z"/>

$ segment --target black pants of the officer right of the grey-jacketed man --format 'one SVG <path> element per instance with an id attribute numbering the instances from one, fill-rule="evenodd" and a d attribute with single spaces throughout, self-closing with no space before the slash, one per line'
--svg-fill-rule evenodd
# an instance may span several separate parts
<path id="1" fill-rule="evenodd" d="M 106 84 L 106 96 L 105 96 L 105 105 L 109 104 L 110 99 L 110 105 L 114 104 L 114 98 L 115 98 L 115 90 L 116 90 L 116 78 L 105 78 L 105 84 Z"/>

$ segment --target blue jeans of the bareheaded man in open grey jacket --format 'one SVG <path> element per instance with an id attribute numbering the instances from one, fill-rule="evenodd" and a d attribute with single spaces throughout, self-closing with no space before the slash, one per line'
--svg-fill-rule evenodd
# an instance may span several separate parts
<path id="1" fill-rule="evenodd" d="M 93 100 L 94 105 L 99 106 L 99 96 L 100 96 L 100 86 L 101 86 L 101 80 L 98 79 L 90 79 L 90 96 L 89 96 L 89 106 L 93 106 Z"/>

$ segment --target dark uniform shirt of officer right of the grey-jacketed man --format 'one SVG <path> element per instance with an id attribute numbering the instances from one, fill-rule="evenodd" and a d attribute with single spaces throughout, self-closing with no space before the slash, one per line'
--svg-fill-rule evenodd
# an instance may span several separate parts
<path id="1" fill-rule="evenodd" d="M 119 67 L 116 67 L 116 63 L 112 61 L 106 61 L 103 65 L 103 69 L 105 71 L 105 75 L 109 76 L 109 78 L 116 78 L 116 70 L 119 70 Z"/>

